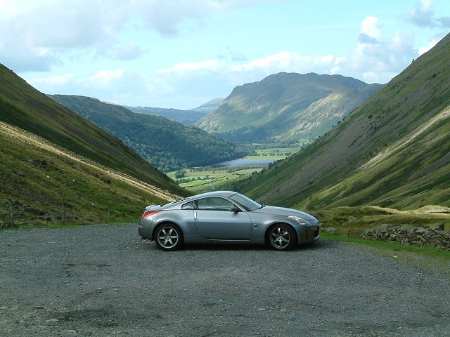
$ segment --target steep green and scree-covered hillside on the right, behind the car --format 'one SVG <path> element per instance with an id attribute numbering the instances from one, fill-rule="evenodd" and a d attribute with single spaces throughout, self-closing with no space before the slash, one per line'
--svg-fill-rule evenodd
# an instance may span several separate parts
<path id="1" fill-rule="evenodd" d="M 238 188 L 323 209 L 450 206 L 450 34 L 332 131 Z"/>

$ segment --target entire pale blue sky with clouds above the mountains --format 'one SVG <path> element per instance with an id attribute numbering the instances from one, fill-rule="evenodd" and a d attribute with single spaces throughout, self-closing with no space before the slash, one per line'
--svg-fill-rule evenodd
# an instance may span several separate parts
<path id="1" fill-rule="evenodd" d="M 183 110 L 278 72 L 385 84 L 449 32 L 449 0 L 0 0 L 34 88 Z"/>

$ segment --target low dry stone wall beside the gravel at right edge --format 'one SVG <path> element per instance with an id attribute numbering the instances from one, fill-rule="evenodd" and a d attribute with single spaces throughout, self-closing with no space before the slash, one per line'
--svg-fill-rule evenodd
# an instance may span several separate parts
<path id="1" fill-rule="evenodd" d="M 361 237 L 368 240 L 416 244 L 450 251 L 450 232 L 445 231 L 442 224 L 431 228 L 383 224 L 380 227 L 365 230 Z"/>

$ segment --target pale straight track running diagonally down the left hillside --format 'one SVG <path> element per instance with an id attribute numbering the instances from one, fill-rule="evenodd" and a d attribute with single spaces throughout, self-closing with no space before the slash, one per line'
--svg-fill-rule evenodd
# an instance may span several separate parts
<path id="1" fill-rule="evenodd" d="M 161 190 L 158 187 L 155 187 L 148 183 L 144 183 L 141 180 L 138 180 L 131 176 L 127 176 L 124 173 L 115 171 L 106 166 L 98 164 L 95 161 L 92 161 L 91 159 L 87 159 L 85 157 L 80 156 L 79 154 L 70 152 L 70 151 L 64 149 L 63 147 L 59 147 L 58 145 L 49 142 L 49 140 L 46 140 L 45 138 L 41 138 L 37 135 L 34 135 L 34 133 L 30 133 L 28 131 L 23 130 L 22 128 L 18 128 L 17 126 L 12 126 L 11 124 L 7 124 L 3 121 L 0 121 L 0 133 L 4 133 L 4 134 L 6 134 L 6 136 L 19 139 L 19 140 L 23 141 L 24 143 L 27 143 L 28 145 L 39 147 L 42 150 L 46 150 L 46 151 L 58 154 L 63 157 L 68 157 L 74 161 L 78 161 L 87 166 L 94 167 L 94 169 L 96 169 L 98 171 L 102 171 L 105 174 L 105 176 L 110 176 L 111 178 L 121 180 L 124 183 L 133 185 L 134 187 L 137 187 L 145 192 L 154 194 L 155 196 L 161 197 L 162 199 L 165 199 L 168 201 L 172 201 L 175 199 L 181 199 L 180 197 L 178 197 L 168 191 Z"/>

